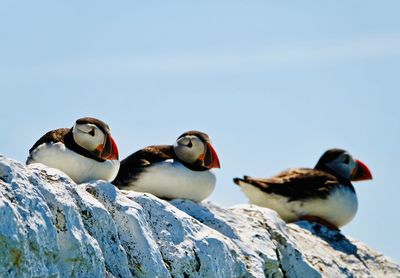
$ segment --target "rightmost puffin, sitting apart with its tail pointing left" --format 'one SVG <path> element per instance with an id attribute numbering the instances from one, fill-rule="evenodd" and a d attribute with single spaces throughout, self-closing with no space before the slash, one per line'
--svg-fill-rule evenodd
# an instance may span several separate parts
<path id="1" fill-rule="evenodd" d="M 286 222 L 308 220 L 339 230 L 358 208 L 352 181 L 372 179 L 368 167 L 343 149 L 329 149 L 312 168 L 270 178 L 234 178 L 251 204 L 275 210 Z"/>

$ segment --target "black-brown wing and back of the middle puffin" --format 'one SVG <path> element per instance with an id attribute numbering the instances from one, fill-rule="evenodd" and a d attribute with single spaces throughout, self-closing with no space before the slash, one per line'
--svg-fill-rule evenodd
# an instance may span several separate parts
<path id="1" fill-rule="evenodd" d="M 112 183 L 118 187 L 124 186 L 135 180 L 144 168 L 173 158 L 172 145 L 149 146 L 141 149 L 121 161 L 118 175 Z"/>

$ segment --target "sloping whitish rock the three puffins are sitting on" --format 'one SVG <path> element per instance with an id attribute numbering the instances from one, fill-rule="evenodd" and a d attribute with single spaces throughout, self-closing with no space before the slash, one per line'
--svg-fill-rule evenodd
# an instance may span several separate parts
<path id="1" fill-rule="evenodd" d="M 0 156 L 1 277 L 400 277 L 400 266 L 269 209 L 167 202 Z"/>

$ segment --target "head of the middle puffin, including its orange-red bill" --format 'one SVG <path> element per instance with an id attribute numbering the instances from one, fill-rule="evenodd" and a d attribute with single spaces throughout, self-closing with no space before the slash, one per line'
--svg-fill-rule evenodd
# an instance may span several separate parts
<path id="1" fill-rule="evenodd" d="M 202 168 L 220 168 L 219 158 L 207 134 L 188 131 L 178 137 L 174 152 L 179 160 Z"/>

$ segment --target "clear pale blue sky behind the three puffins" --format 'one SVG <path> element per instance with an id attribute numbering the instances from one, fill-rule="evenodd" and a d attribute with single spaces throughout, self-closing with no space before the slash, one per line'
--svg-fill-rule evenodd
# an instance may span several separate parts
<path id="1" fill-rule="evenodd" d="M 207 132 L 222 169 L 211 201 L 247 202 L 232 178 L 313 167 L 347 149 L 344 234 L 400 261 L 399 1 L 0 3 L 0 153 L 24 162 L 45 132 L 106 121 L 121 158 Z"/>

